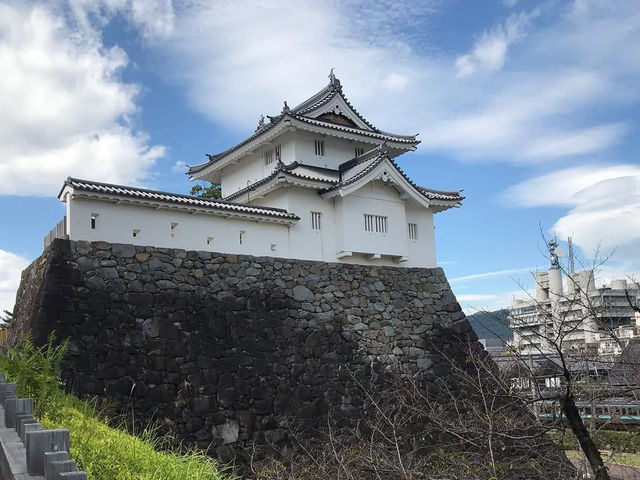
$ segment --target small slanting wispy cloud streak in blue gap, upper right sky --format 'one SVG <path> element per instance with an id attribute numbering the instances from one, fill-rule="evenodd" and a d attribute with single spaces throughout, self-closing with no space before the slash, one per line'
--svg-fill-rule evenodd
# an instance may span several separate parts
<path id="1" fill-rule="evenodd" d="M 515 5 L 515 2 L 511 6 Z M 466 77 L 475 73 L 492 73 L 500 70 L 507 58 L 509 46 L 520 40 L 539 15 L 532 13 L 510 15 L 507 20 L 493 30 L 484 32 L 470 53 L 456 59 L 458 76 Z"/>

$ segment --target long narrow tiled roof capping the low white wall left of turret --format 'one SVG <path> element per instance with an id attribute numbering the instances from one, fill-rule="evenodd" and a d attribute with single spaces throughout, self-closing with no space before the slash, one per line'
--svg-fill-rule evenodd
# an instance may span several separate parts
<path id="1" fill-rule="evenodd" d="M 73 195 L 83 195 L 102 200 L 116 198 L 126 203 L 144 203 L 156 206 L 164 205 L 167 208 L 189 208 L 194 211 L 199 210 L 203 213 L 217 213 L 225 216 L 262 217 L 265 221 L 270 219 L 279 223 L 283 221 L 285 223 L 293 223 L 300 219 L 297 215 L 281 208 L 244 205 L 227 200 L 194 197 L 178 193 L 147 190 L 146 188 L 80 180 L 71 177 L 67 178 L 58 194 L 61 200 L 64 200 L 62 196 L 65 189 L 69 188 L 73 190 Z"/>

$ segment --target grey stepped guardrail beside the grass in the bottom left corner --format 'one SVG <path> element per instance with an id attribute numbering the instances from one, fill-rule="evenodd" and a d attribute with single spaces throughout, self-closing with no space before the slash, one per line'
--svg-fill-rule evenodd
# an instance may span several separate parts
<path id="1" fill-rule="evenodd" d="M 87 480 L 68 452 L 69 430 L 43 429 L 33 418 L 33 399 L 17 398 L 16 384 L 0 373 L 0 478 Z"/>

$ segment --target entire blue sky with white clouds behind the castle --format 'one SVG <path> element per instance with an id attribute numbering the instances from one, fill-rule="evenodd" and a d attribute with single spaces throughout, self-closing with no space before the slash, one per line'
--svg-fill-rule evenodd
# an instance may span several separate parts
<path id="1" fill-rule="evenodd" d="M 372 123 L 420 133 L 418 184 L 467 311 L 545 268 L 541 232 L 640 272 L 640 3 L 0 0 L 0 308 L 64 215 L 67 176 L 188 192 L 182 173 L 335 67 Z"/>

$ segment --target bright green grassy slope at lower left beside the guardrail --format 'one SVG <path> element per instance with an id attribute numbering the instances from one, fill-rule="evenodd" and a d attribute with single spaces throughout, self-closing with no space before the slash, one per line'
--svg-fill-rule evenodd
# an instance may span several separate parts
<path id="1" fill-rule="evenodd" d="M 205 453 L 160 450 L 170 442 L 153 431 L 139 436 L 109 425 L 108 418 L 89 403 L 60 389 L 60 362 L 66 345 L 35 347 L 27 338 L 10 353 L 0 355 L 0 371 L 18 384 L 20 396 L 36 401 L 44 428 L 67 428 L 71 457 L 91 480 L 223 480 L 231 479 Z"/>

